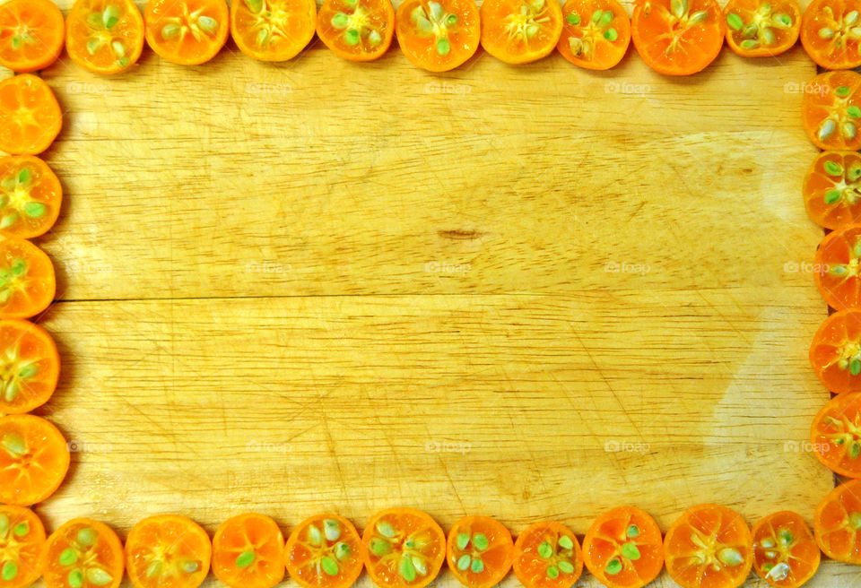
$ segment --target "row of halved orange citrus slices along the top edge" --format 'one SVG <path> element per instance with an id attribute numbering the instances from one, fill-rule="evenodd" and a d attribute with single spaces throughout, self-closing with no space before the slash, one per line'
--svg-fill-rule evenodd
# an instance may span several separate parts
<path id="1" fill-rule="evenodd" d="M 696 73 L 718 56 L 724 39 L 742 56 L 777 56 L 799 35 L 828 69 L 861 65 L 861 0 L 636 0 L 632 20 L 617 0 L 76 0 L 63 19 L 51 0 L 0 6 L 0 64 L 32 72 L 65 48 L 95 73 L 120 73 L 141 56 L 143 41 L 163 58 L 199 65 L 231 32 L 237 47 L 264 61 L 297 56 L 317 33 L 352 61 L 382 56 L 396 35 L 413 64 L 432 72 L 462 65 L 479 43 L 492 56 L 523 64 L 558 48 L 570 62 L 608 69 L 634 41 L 657 72 Z"/>

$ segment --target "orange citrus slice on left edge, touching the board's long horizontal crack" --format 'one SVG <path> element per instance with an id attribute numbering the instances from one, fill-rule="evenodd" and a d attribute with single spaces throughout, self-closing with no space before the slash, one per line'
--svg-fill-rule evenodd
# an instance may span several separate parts
<path id="1" fill-rule="evenodd" d="M 36 316 L 56 290 L 54 266 L 39 247 L 19 238 L 0 241 L 0 318 Z"/>

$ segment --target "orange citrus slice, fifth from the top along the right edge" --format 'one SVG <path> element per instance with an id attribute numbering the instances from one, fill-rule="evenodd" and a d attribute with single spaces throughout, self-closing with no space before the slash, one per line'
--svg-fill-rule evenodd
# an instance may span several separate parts
<path id="1" fill-rule="evenodd" d="M 810 346 L 810 365 L 833 393 L 861 391 L 861 310 L 826 318 Z"/>

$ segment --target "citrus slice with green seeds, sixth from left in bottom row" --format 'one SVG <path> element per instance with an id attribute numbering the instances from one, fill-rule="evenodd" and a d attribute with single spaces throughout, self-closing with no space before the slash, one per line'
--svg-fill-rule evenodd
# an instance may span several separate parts
<path id="1" fill-rule="evenodd" d="M 446 558 L 446 535 L 430 515 L 390 508 L 371 517 L 361 536 L 370 579 L 380 588 L 424 588 Z"/>

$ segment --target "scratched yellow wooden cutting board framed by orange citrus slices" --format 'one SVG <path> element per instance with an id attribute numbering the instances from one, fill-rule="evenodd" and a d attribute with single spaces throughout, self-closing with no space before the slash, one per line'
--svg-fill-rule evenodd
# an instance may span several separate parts
<path id="1" fill-rule="evenodd" d="M 289 532 L 401 505 L 582 535 L 611 506 L 666 529 L 702 502 L 811 521 L 833 486 L 804 446 L 828 399 L 799 194 L 815 69 L 725 50 L 675 80 L 631 54 L 431 75 L 396 49 L 263 65 L 229 44 L 42 73 L 67 195 L 39 239 L 64 359 L 42 413 L 75 450 L 48 525 L 258 510 Z"/>

